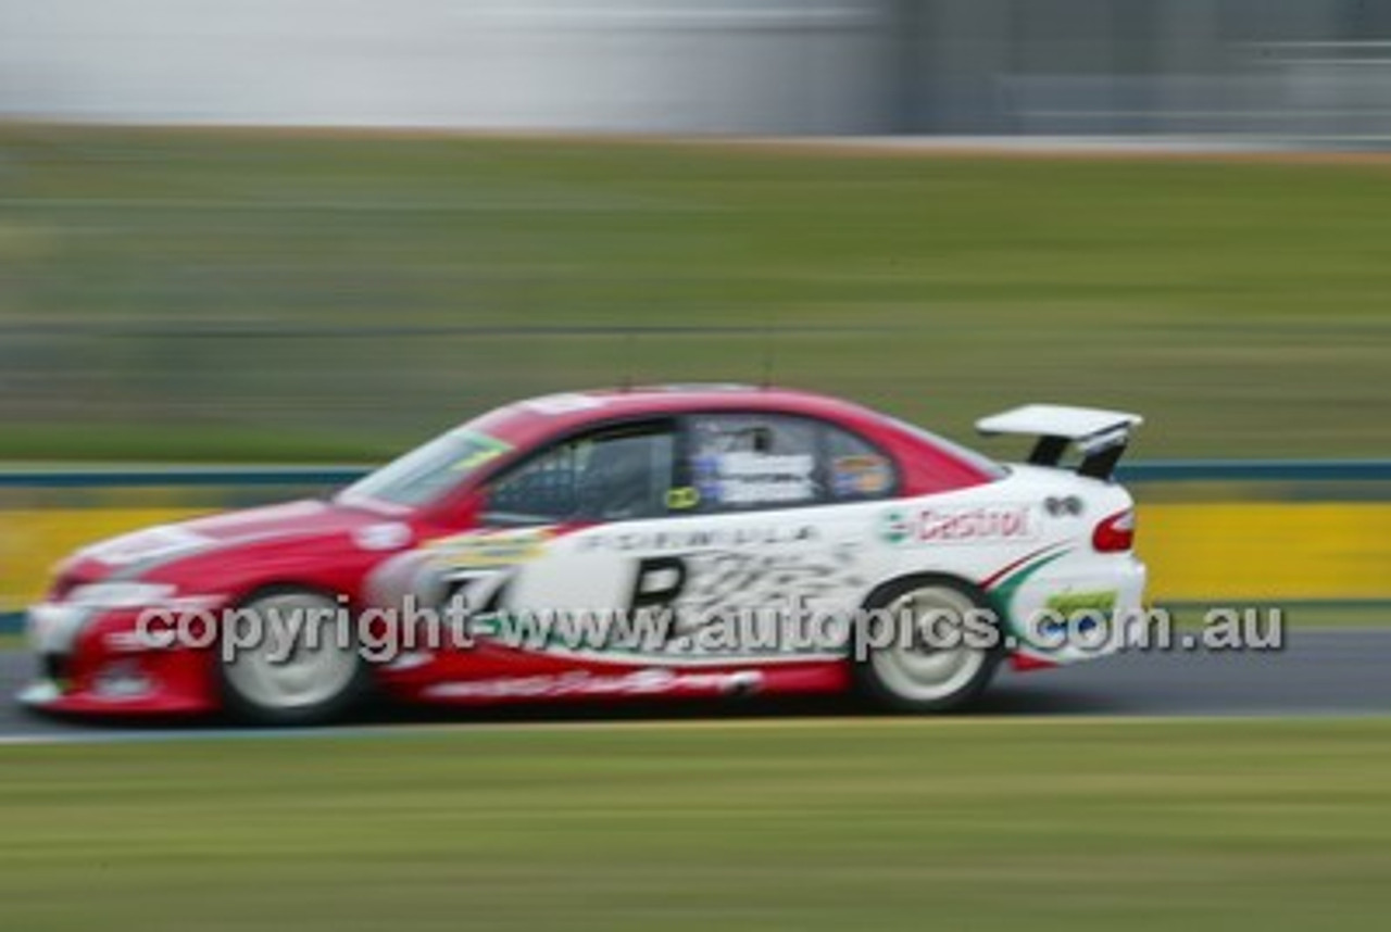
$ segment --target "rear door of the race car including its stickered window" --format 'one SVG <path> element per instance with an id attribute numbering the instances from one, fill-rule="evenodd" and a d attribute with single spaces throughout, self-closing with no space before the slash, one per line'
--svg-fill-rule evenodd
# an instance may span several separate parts
<path id="1" fill-rule="evenodd" d="M 837 426 L 764 412 L 690 415 L 679 453 L 684 508 L 634 541 L 634 601 L 676 609 L 684 657 L 836 654 L 843 629 L 828 622 L 874 583 L 867 544 L 892 460 Z"/>

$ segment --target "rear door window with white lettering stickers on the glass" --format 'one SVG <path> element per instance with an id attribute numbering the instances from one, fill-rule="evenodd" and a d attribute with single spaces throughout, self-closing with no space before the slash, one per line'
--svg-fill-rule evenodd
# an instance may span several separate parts
<path id="1" fill-rule="evenodd" d="M 825 498 L 818 424 L 782 415 L 696 415 L 687 472 L 702 512 L 808 505 Z"/>

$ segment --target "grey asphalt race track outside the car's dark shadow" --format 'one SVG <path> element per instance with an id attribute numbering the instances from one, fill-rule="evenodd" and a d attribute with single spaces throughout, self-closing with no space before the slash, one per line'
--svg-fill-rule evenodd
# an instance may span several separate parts
<path id="1" fill-rule="evenodd" d="M 28 680 L 31 658 L 0 651 L 0 743 L 17 740 L 113 740 L 138 734 L 206 736 L 199 726 L 140 726 L 56 721 L 14 701 Z M 377 712 L 349 728 L 419 722 L 608 722 L 633 718 L 716 718 L 736 714 L 793 716 L 835 715 L 843 704 L 743 700 L 643 707 L 545 707 L 531 709 L 458 709 Z M 1291 627 L 1281 651 L 1266 652 L 1128 652 L 1078 666 L 1003 672 L 972 715 L 1377 715 L 1391 712 L 1391 630 L 1305 630 Z M 214 723 L 216 726 L 216 723 Z M 332 729 L 321 729 L 332 733 Z"/>

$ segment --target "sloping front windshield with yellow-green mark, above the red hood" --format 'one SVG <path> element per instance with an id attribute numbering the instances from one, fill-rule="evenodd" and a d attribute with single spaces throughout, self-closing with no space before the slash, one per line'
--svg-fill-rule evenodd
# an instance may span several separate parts
<path id="1" fill-rule="evenodd" d="M 339 494 L 339 499 L 370 499 L 408 508 L 426 505 L 509 449 L 501 440 L 459 427 L 357 480 Z"/>

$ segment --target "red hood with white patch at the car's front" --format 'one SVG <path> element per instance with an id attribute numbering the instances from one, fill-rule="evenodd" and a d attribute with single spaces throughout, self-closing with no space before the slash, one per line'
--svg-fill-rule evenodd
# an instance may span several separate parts
<path id="1" fill-rule="evenodd" d="M 147 527 L 82 548 L 63 568 L 79 581 L 134 579 L 157 566 L 209 552 L 309 538 L 349 538 L 364 549 L 409 543 L 408 523 L 360 508 L 305 499 Z"/>

